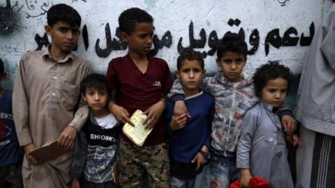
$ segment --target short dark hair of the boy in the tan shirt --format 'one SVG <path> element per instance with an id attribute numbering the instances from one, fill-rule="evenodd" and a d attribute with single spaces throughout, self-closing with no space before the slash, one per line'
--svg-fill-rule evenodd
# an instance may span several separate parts
<path id="1" fill-rule="evenodd" d="M 65 22 L 70 26 L 80 26 L 82 18 L 77 10 L 66 4 L 57 4 L 47 10 L 47 24 L 54 26 L 57 22 Z"/>

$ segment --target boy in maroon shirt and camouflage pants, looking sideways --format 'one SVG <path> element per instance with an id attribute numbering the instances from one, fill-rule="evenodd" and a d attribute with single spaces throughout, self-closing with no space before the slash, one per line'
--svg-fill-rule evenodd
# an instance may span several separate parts
<path id="1" fill-rule="evenodd" d="M 113 91 L 108 105 L 117 120 L 131 123 L 136 109 L 147 115 L 147 128 L 153 128 L 143 146 L 136 146 L 126 135 L 120 141 L 122 187 L 142 187 L 148 174 L 151 187 L 169 187 L 170 162 L 164 120 L 164 96 L 172 81 L 168 64 L 147 56 L 154 36 L 154 19 L 144 10 L 130 8 L 119 16 L 122 39 L 128 54 L 112 59 L 107 70 L 107 87 Z M 133 124 L 133 123 L 131 123 Z"/>

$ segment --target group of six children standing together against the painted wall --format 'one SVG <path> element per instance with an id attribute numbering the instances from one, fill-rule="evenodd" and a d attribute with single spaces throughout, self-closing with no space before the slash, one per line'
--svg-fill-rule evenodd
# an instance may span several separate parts
<path id="1" fill-rule="evenodd" d="M 177 58 L 172 86 L 168 63 L 147 56 L 154 19 L 130 8 L 119 16 L 128 54 L 110 61 L 106 77 L 89 74 L 87 62 L 71 53 L 80 22 L 70 6 L 52 6 L 45 26 L 51 44 L 21 58 L 13 117 L 25 153 L 24 187 L 142 187 L 143 177 L 160 188 L 228 187 L 239 177 L 248 187 L 253 175 L 275 188 L 294 187 L 285 139 L 297 145 L 299 138 L 283 105 L 288 68 L 271 62 L 253 77 L 242 75 L 246 42 L 228 33 L 217 48 L 214 77 L 204 77 L 202 54 L 187 50 Z M 6 92 L 0 91 L 4 104 Z M 136 109 L 153 129 L 143 146 L 121 132 L 121 123 L 133 125 Z M 64 148 L 74 142 L 73 152 L 47 162 L 29 155 L 56 140 Z"/>

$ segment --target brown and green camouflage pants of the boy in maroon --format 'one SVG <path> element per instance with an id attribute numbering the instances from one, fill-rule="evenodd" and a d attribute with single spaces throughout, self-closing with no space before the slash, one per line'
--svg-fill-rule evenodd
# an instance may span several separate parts
<path id="1" fill-rule="evenodd" d="M 119 150 L 122 187 L 142 187 L 145 174 L 151 187 L 170 187 L 167 143 L 140 147 L 121 139 Z"/>

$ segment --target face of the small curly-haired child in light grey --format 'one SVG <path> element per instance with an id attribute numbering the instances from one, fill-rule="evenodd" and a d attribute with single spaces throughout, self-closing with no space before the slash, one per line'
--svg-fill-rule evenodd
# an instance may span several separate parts
<path id="1" fill-rule="evenodd" d="M 262 89 L 262 97 L 260 100 L 274 107 L 283 104 L 288 94 L 288 81 L 281 77 L 269 79 L 267 85 Z"/>

